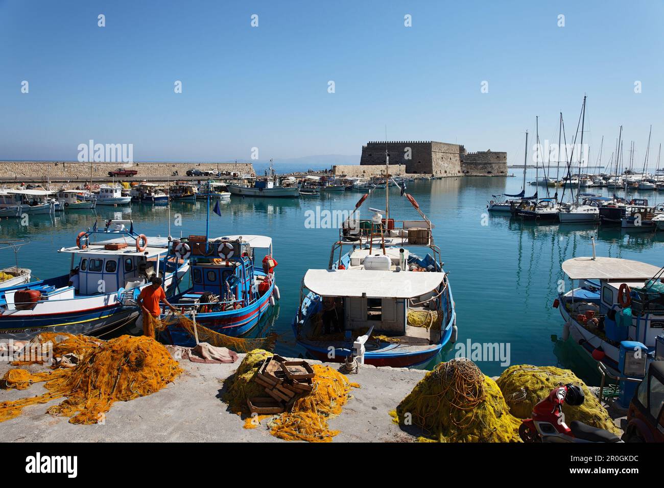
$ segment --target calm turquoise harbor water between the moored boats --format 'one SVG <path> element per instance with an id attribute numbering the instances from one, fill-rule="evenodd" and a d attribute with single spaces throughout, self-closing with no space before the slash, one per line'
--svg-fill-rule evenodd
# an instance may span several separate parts
<path id="1" fill-rule="evenodd" d="M 533 175 L 528 175 L 533 180 Z M 535 187 L 528 185 L 527 193 Z M 620 228 L 600 228 L 584 224 L 561 226 L 511 220 L 508 216 L 487 216 L 486 204 L 491 194 L 518 193 L 521 177 L 464 177 L 408 183 L 408 192 L 432 220 L 434 238 L 442 250 L 445 269 L 450 272 L 452 293 L 456 301 L 459 337 L 457 344 L 509 344 L 511 364 L 560 365 L 572 368 L 586 380 L 596 382 L 592 367 L 578 347 L 552 339 L 560 336 L 562 321 L 552 301 L 560 264 L 573 256 L 592 254 L 591 238 L 596 240 L 599 256 L 628 258 L 661 264 L 664 237 L 649 233 L 623 234 Z M 543 189 L 540 189 L 540 192 Z M 559 190 L 561 191 L 561 190 Z M 601 190 L 598 193 L 602 192 Z M 609 191 L 602 192 L 608 195 Z M 630 195 L 632 195 L 630 193 Z M 638 193 L 633 193 L 637 197 Z M 210 236 L 224 234 L 266 234 L 274 240 L 278 260 L 276 280 L 281 291 L 274 329 L 279 333 L 277 352 L 298 356 L 290 323 L 297 308 L 299 285 L 308 268 L 326 268 L 331 244 L 338 236 L 335 228 L 305 228 L 307 210 L 351 210 L 361 194 L 332 192 L 321 199 L 238 199 L 220 203 L 222 216 L 210 212 Z M 656 192 L 643 192 L 654 201 Z M 660 201 L 663 197 L 659 197 Z M 205 234 L 205 202 L 171 204 L 173 236 Z M 363 206 L 384 208 L 384 190 L 375 191 Z M 414 208 L 390 189 L 390 216 L 418 218 Z M 31 268 L 39 278 L 64 274 L 68 258 L 57 249 L 71 246 L 76 234 L 98 219 L 133 218 L 137 232 L 150 235 L 168 234 L 169 209 L 166 206 L 133 204 L 125 208 L 99 206 L 57 216 L 31 216 L 29 226 L 17 219 L 0 220 L 2 239 L 31 240 L 19 253 L 21 266 Z M 175 225 L 181 216 L 181 226 Z M 13 253 L 0 254 L 1 267 L 13 264 Z M 569 286 L 569 283 L 566 283 Z M 272 323 L 273 320 L 270 320 Z M 456 349 L 446 347 L 438 361 L 454 357 Z M 479 361 L 485 374 L 500 374 L 505 366 L 497 361 Z"/>

